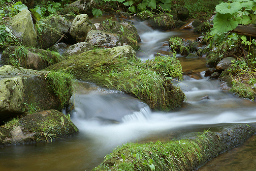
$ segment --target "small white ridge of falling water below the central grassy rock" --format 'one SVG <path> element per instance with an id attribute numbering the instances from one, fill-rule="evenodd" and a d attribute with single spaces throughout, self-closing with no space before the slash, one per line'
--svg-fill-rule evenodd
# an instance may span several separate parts
<path id="1" fill-rule="evenodd" d="M 136 122 L 136 121 L 145 121 L 149 118 L 151 110 L 148 106 L 140 109 L 139 112 L 133 112 L 132 114 L 127 114 L 122 118 L 123 122 Z"/>

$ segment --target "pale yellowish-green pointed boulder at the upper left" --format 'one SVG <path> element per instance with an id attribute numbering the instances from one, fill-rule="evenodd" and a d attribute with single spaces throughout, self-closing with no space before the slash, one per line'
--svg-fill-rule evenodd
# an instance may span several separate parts
<path id="1" fill-rule="evenodd" d="M 10 20 L 8 27 L 24 46 L 36 47 L 36 29 L 28 9 L 24 9 L 15 15 Z"/>

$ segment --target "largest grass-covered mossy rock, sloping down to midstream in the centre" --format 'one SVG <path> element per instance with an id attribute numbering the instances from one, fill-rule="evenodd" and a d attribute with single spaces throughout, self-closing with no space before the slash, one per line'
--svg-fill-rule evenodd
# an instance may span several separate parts
<path id="1" fill-rule="evenodd" d="M 135 57 L 130 46 L 84 52 L 48 69 L 63 69 L 79 80 L 122 90 L 144 101 L 152 110 L 179 108 L 185 97 L 179 87 Z"/>

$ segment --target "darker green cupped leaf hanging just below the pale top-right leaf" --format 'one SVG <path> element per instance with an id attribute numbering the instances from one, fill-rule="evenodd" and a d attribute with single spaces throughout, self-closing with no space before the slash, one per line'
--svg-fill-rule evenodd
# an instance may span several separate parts
<path id="1" fill-rule="evenodd" d="M 211 29 L 214 33 L 226 32 L 233 30 L 238 26 L 238 22 L 234 20 L 233 16 L 230 14 L 220 14 L 217 13 L 213 19 L 213 28 Z"/>

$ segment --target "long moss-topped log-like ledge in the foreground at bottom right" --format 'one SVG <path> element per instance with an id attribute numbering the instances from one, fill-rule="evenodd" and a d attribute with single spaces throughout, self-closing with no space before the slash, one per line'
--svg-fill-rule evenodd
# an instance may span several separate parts
<path id="1" fill-rule="evenodd" d="M 170 142 L 127 143 L 105 157 L 94 171 L 193 171 L 217 155 L 242 144 L 256 132 L 255 124 L 230 124 L 201 133 L 180 135 Z"/>

